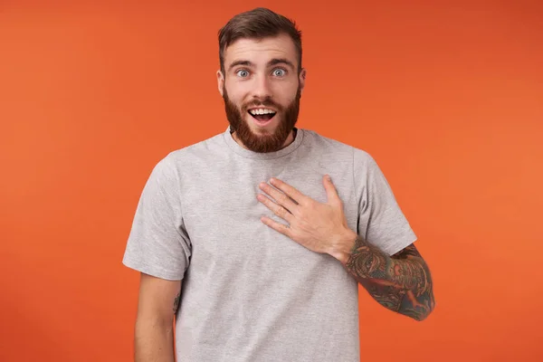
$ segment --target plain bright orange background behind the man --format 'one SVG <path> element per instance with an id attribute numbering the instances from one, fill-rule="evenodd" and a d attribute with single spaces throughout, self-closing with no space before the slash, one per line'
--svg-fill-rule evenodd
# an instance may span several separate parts
<path id="1" fill-rule="evenodd" d="M 541 2 L 181 3 L 0 5 L 1 361 L 132 359 L 139 194 L 226 128 L 216 33 L 257 5 L 303 31 L 300 127 L 376 157 L 433 271 L 423 323 L 361 293 L 363 360 L 543 360 Z"/>

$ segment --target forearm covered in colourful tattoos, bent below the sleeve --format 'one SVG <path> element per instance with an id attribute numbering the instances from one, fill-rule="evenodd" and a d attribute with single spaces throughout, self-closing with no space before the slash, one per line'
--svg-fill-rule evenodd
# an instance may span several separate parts
<path id="1" fill-rule="evenodd" d="M 388 256 L 358 237 L 345 267 L 389 310 L 416 320 L 423 320 L 432 312 L 432 277 L 413 244 Z"/>

